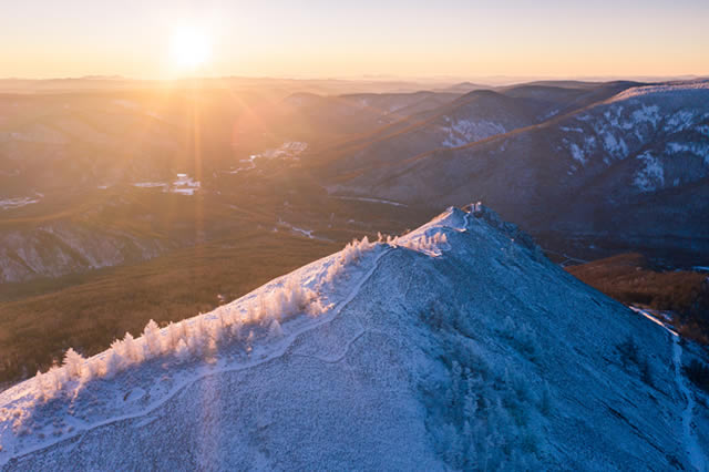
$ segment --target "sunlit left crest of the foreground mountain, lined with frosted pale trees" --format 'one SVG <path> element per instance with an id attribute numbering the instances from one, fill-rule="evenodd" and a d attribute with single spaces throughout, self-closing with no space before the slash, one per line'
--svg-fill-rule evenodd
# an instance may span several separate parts
<path id="1" fill-rule="evenodd" d="M 0 464 L 116 415 L 140 414 L 202 376 L 281 355 L 285 338 L 337 314 L 379 257 L 395 250 L 440 256 L 445 232 L 463 230 L 464 215 L 449 208 L 405 236 L 354 240 L 214 311 L 162 329 L 151 321 L 142 336 L 126 334 L 89 359 L 70 349 L 62 366 L 0 393 Z"/>

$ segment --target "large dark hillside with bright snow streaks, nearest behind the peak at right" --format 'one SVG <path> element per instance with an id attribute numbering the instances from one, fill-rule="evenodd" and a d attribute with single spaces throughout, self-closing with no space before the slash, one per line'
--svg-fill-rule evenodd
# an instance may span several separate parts
<path id="1" fill-rule="evenodd" d="M 576 249 L 703 264 L 709 82 L 630 88 L 544 123 L 332 177 L 331 189 L 410 205 L 483 199 Z M 681 212 L 678 211 L 681 208 Z"/>

